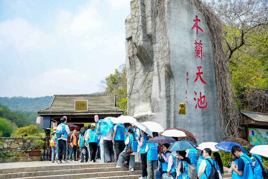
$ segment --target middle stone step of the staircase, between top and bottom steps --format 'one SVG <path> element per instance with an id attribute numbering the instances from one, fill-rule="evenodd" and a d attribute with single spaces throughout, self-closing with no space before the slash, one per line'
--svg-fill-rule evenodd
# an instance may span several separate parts
<path id="1" fill-rule="evenodd" d="M 135 166 L 135 170 L 141 170 L 141 166 Z M 128 167 L 116 168 L 116 167 L 102 167 L 102 168 L 79 168 L 68 170 L 48 170 L 48 171 L 35 171 L 35 172 L 17 172 L 17 173 L 5 173 L 0 175 L 0 179 L 20 178 L 20 177 L 40 177 L 48 175 L 71 175 L 79 173 L 95 173 L 95 172 L 118 172 L 128 171 Z"/>

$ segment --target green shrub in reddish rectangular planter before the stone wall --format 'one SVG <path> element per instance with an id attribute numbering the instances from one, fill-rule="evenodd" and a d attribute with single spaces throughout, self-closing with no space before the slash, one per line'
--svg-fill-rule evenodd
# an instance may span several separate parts
<path id="1" fill-rule="evenodd" d="M 25 137 L 26 138 L 26 137 Z M 31 140 L 30 151 L 25 151 L 26 156 L 39 156 L 40 152 L 45 144 L 45 141 L 41 140 L 39 137 L 36 136 L 27 136 L 26 139 Z"/>

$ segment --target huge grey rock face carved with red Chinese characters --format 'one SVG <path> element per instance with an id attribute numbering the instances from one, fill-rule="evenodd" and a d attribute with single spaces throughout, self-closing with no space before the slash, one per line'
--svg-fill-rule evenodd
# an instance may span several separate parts
<path id="1" fill-rule="evenodd" d="M 128 115 L 219 140 L 212 40 L 189 0 L 133 0 L 126 19 Z M 185 114 L 184 114 L 185 109 Z"/>

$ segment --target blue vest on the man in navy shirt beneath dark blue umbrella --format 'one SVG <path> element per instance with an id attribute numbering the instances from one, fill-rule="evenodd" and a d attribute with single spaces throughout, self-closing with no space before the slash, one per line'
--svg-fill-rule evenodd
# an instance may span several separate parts
<path id="1" fill-rule="evenodd" d="M 243 169 L 243 175 L 237 175 L 237 177 L 241 179 L 254 179 L 254 174 L 252 170 L 252 159 L 249 158 L 245 153 L 243 153 L 240 158 L 243 159 L 245 165 Z"/>

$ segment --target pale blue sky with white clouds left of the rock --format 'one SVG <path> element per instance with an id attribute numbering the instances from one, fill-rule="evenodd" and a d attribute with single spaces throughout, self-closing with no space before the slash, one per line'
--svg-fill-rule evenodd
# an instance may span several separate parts
<path id="1" fill-rule="evenodd" d="M 100 92 L 125 63 L 128 0 L 0 1 L 0 97 Z"/>

